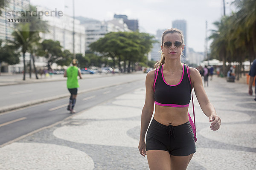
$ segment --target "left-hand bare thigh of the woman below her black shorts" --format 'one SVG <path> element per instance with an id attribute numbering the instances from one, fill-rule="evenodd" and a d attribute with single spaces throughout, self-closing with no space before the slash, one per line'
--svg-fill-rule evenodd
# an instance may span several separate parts
<path id="1" fill-rule="evenodd" d="M 150 170 L 171 170 L 170 154 L 165 150 L 148 150 L 147 159 Z"/>

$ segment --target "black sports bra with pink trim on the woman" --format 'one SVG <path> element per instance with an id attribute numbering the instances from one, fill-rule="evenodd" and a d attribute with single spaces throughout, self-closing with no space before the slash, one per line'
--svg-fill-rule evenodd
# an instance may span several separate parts
<path id="1" fill-rule="evenodd" d="M 191 83 L 188 66 L 183 64 L 183 73 L 177 85 L 169 85 L 163 77 L 163 65 L 156 69 L 154 101 L 156 105 L 185 108 L 191 100 Z"/>

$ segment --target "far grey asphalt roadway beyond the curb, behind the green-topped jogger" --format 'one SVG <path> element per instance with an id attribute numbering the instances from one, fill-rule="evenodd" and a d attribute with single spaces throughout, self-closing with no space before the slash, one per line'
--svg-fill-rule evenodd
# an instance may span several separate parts
<path id="1" fill-rule="evenodd" d="M 145 80 L 145 74 L 115 74 L 94 78 L 87 77 L 86 79 L 79 79 L 79 93 L 133 82 L 139 79 Z M 50 99 L 57 99 L 69 95 L 66 79 L 53 82 L 5 85 L 0 86 L 0 91 L 0 112 L 4 111 L 3 108 L 15 108 L 16 106 L 23 105 L 25 102 L 27 105 L 30 105 L 31 103 L 38 103 L 38 101 L 43 99 L 49 101 Z"/>

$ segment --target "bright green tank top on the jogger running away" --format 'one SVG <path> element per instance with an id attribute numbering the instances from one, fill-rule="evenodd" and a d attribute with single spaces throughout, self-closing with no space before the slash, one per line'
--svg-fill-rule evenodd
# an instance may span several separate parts
<path id="1" fill-rule="evenodd" d="M 78 88 L 78 67 L 71 66 L 67 68 L 67 88 Z"/>

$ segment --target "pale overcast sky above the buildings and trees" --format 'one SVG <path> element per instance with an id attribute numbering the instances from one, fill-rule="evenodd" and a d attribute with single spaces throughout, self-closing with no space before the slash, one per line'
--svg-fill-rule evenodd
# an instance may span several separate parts
<path id="1" fill-rule="evenodd" d="M 226 14 L 232 6 L 225 0 Z M 63 11 L 72 16 L 72 0 L 30 0 L 34 6 Z M 65 8 L 65 6 L 67 6 Z M 234 8 L 233 8 L 234 9 Z M 212 25 L 223 15 L 223 0 L 75 0 L 75 16 L 96 20 L 112 20 L 114 14 L 125 14 L 139 21 L 140 31 L 156 34 L 157 29 L 172 28 L 172 21 L 186 20 L 187 46 L 203 52 L 208 22 L 208 36 Z M 209 42 L 210 43 L 210 42 Z M 209 46 L 208 43 L 208 46 Z"/>

